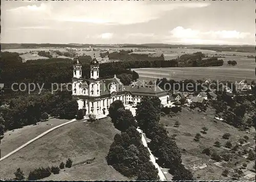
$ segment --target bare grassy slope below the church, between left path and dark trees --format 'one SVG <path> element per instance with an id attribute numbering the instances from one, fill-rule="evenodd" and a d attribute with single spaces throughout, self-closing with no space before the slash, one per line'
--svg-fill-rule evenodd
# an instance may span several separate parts
<path id="1" fill-rule="evenodd" d="M 71 168 L 60 170 L 59 174 L 52 174 L 44 180 L 129 180 L 105 160 L 114 135 L 118 132 L 109 118 L 94 123 L 81 120 L 67 124 L 1 161 L 1 178 L 13 178 L 17 168 L 23 170 L 27 177 L 34 168 L 59 166 L 61 162 L 71 158 Z M 8 137 L 9 135 L 5 140 Z M 17 138 L 16 142 L 18 141 Z M 93 163 L 84 164 L 86 160 L 94 157 Z"/>

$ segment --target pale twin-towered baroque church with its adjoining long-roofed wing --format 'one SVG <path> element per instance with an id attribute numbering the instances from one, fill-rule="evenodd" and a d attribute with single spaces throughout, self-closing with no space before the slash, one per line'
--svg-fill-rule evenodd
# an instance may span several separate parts
<path id="1" fill-rule="evenodd" d="M 78 109 L 84 109 L 86 116 L 93 114 L 96 119 L 108 115 L 111 103 L 120 100 L 127 104 L 137 104 L 143 97 L 158 97 L 163 105 L 167 104 L 167 93 L 154 85 L 125 86 L 116 77 L 99 79 L 99 62 L 93 58 L 91 61 L 91 74 L 89 79 L 82 78 L 82 65 L 79 58 L 74 58 L 72 78 L 72 98 L 77 101 Z"/>

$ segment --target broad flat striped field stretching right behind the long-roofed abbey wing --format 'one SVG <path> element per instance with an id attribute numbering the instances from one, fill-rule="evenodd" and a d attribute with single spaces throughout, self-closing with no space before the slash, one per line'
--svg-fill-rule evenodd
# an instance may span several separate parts
<path id="1" fill-rule="evenodd" d="M 255 80 L 255 64 L 248 64 L 245 65 L 245 67 L 242 67 L 242 65 L 240 65 L 215 67 L 165 67 L 132 70 L 136 71 L 139 74 L 140 79 L 212 79 L 230 80 L 233 82 L 240 81 L 241 79 L 246 79 L 247 81 Z"/>

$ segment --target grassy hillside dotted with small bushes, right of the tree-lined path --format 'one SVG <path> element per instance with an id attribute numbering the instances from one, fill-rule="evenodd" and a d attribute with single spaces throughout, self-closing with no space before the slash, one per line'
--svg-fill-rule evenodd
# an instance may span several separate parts
<path id="1" fill-rule="evenodd" d="M 218 148 L 214 146 L 216 141 L 219 141 L 222 146 L 225 145 L 227 141 L 230 141 L 234 146 L 244 135 L 249 137 L 248 144 L 239 148 L 248 149 L 251 147 L 252 149 L 255 149 L 255 140 L 253 139 L 255 135 L 254 128 L 252 128 L 253 133 L 250 134 L 245 131 L 239 131 L 237 128 L 224 122 L 215 120 L 214 113 L 214 109 L 209 109 L 204 113 L 196 110 L 190 111 L 188 108 L 182 108 L 182 112 L 176 117 L 162 117 L 160 123 L 165 126 L 165 129 L 169 132 L 169 136 L 177 134 L 175 141 L 182 151 L 182 163 L 193 172 L 196 180 L 230 180 L 232 172 L 230 172 L 228 177 L 221 175 L 225 166 L 228 166 L 227 168 L 231 171 L 231 169 L 241 167 L 243 163 L 248 164 L 248 167 L 243 169 L 243 171 L 245 175 L 249 175 L 244 175 L 244 177 L 239 180 L 255 180 L 255 178 L 253 178 L 255 177 L 255 169 L 252 169 L 254 164 L 253 161 L 247 162 L 245 158 L 238 157 L 232 158 L 231 161 L 221 163 L 218 166 L 218 163 L 211 160 L 210 156 L 202 153 L 205 148 L 210 148 L 211 152 L 216 152 L 217 154 L 225 153 L 228 151 L 226 148 Z M 174 127 L 176 121 L 179 121 L 179 127 Z M 201 128 L 203 126 L 208 128 L 206 134 L 201 133 Z M 229 140 L 222 139 L 222 135 L 226 132 L 231 134 Z M 194 141 L 196 133 L 202 135 L 199 142 Z M 185 151 L 183 151 L 183 149 L 185 149 Z M 238 165 L 235 166 L 234 163 L 237 161 Z M 254 172 L 250 170 L 254 170 Z"/>

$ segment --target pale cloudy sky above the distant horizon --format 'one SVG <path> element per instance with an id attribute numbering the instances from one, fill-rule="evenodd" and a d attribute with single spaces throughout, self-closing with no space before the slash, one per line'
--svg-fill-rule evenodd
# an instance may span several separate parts
<path id="1" fill-rule="evenodd" d="M 255 44 L 254 1 L 2 1 L 2 43 Z"/>

